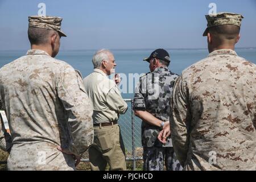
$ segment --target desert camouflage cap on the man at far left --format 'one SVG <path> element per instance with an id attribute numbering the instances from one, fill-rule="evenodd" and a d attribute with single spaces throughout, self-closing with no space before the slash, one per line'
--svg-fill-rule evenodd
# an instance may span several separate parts
<path id="1" fill-rule="evenodd" d="M 61 36 L 67 36 L 60 30 L 62 18 L 56 16 L 28 16 L 28 27 L 55 30 Z"/>

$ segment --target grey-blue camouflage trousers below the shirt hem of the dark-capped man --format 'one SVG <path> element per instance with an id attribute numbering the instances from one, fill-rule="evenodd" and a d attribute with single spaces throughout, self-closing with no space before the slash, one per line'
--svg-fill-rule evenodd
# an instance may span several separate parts
<path id="1" fill-rule="evenodd" d="M 143 170 L 163 171 L 164 163 L 168 171 L 181 171 L 173 147 L 143 147 Z"/>

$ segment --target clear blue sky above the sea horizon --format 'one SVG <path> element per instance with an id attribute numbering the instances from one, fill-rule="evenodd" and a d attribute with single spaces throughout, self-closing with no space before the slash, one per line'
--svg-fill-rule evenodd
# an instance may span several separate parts
<path id="1" fill-rule="evenodd" d="M 0 0 L 0 50 L 29 49 L 28 16 L 63 18 L 61 49 L 207 48 L 209 3 L 245 16 L 237 47 L 256 47 L 256 0 Z"/>

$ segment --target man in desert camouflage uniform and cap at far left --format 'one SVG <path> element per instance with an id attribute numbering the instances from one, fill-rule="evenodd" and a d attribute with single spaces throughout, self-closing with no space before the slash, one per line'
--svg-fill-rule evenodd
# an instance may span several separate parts
<path id="1" fill-rule="evenodd" d="M 13 147 L 9 170 L 73 170 L 93 142 L 92 104 L 80 75 L 54 59 L 61 18 L 30 16 L 31 49 L 0 69 Z"/>

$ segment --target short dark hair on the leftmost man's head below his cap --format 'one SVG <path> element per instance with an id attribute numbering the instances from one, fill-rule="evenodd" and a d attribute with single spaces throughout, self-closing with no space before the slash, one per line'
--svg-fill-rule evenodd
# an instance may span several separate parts
<path id="1" fill-rule="evenodd" d="M 52 30 L 44 28 L 29 27 L 28 28 L 28 39 L 31 44 L 39 45 L 46 44 Z"/>

